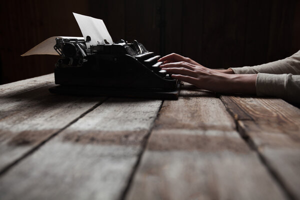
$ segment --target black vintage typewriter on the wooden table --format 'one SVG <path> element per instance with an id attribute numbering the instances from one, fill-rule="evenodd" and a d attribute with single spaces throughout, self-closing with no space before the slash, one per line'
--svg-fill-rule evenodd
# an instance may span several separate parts
<path id="1" fill-rule="evenodd" d="M 60 55 L 52 93 L 104 96 L 135 96 L 177 99 L 180 81 L 173 79 L 154 55 L 136 40 L 106 40 L 87 47 L 86 39 L 56 38 Z"/>

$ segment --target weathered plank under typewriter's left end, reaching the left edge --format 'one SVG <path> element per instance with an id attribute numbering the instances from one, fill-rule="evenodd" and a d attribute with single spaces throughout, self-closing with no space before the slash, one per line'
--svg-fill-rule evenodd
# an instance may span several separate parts
<path id="1" fill-rule="evenodd" d="M 0 171 L 105 99 L 53 95 L 49 86 L 9 96 L 0 106 Z"/>

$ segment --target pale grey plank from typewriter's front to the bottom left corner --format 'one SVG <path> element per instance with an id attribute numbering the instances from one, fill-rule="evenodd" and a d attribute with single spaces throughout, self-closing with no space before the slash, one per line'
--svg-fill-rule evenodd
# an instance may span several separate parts
<path id="1" fill-rule="evenodd" d="M 118 199 L 160 105 L 108 99 L 3 174 L 0 198 Z"/>

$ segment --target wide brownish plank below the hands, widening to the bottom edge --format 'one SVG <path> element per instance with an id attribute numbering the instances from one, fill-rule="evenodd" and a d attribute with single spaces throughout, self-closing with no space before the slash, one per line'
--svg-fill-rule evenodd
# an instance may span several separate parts
<path id="1" fill-rule="evenodd" d="M 221 100 L 196 92 L 164 101 L 126 199 L 284 199 Z"/>

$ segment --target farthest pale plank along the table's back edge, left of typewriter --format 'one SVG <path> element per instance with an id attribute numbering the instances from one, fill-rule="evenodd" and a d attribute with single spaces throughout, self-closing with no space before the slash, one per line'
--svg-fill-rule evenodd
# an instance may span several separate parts
<path id="1" fill-rule="evenodd" d="M 54 82 L 54 73 L 0 85 L 0 98 Z"/>

